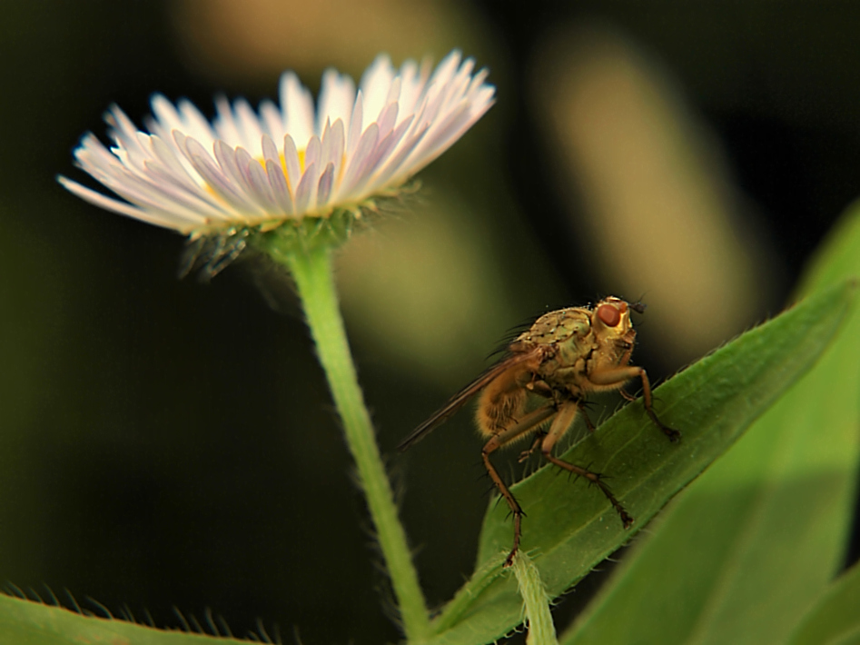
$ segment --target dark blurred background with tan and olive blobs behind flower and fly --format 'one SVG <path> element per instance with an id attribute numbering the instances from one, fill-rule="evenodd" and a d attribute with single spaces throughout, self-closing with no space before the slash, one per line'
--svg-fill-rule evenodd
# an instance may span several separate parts
<path id="1" fill-rule="evenodd" d="M 548 309 L 642 297 L 652 377 L 776 313 L 860 193 L 858 20 L 848 2 L 5 3 L 0 581 L 159 625 L 175 605 L 286 642 L 398 638 L 289 288 L 253 262 L 180 281 L 178 235 L 54 182 L 82 179 L 71 150 L 108 104 L 140 124 L 162 92 L 212 114 L 218 92 L 257 103 L 284 68 L 316 91 L 380 51 L 489 67 L 498 103 L 339 265 L 438 605 L 475 557 L 480 443 L 463 412 L 393 447 Z"/>

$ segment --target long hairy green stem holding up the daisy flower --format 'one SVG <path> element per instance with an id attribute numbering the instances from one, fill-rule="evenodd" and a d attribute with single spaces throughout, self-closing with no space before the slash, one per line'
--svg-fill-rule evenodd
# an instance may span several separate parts
<path id="1" fill-rule="evenodd" d="M 352 364 L 334 285 L 331 249 L 321 246 L 273 258 L 286 263 L 295 279 L 311 337 L 316 343 L 335 406 L 341 414 L 347 444 L 358 466 L 361 488 L 367 498 L 400 607 L 403 630 L 411 643 L 419 643 L 430 636 L 427 606 L 418 583 L 418 573 L 412 565 L 406 533 L 397 517 L 371 415 L 364 404 Z"/>

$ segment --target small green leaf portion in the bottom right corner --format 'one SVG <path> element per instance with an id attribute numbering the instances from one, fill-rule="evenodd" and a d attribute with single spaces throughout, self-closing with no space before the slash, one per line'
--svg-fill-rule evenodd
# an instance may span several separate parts
<path id="1" fill-rule="evenodd" d="M 825 590 L 792 635 L 789 645 L 824 645 L 860 640 L 860 564 Z"/>

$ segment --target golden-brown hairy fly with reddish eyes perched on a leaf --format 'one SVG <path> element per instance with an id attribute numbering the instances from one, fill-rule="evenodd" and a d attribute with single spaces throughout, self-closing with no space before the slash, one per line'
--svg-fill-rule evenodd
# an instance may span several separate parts
<path id="1" fill-rule="evenodd" d="M 633 379 L 642 382 L 645 412 L 651 421 L 669 441 L 680 439 L 680 432 L 657 419 L 645 370 L 629 364 L 636 340 L 636 331 L 630 321 L 631 310 L 642 313 L 645 305 L 627 303 L 610 296 L 594 307 L 568 307 L 545 313 L 527 332 L 519 334 L 509 344 L 505 358 L 454 394 L 398 446 L 399 452 L 408 450 L 480 392 L 476 422 L 480 434 L 487 440 L 481 457 L 514 519 L 514 542 L 505 561 L 506 567 L 511 565 L 519 550 L 523 511 L 489 460 L 493 452 L 536 432 L 538 437 L 531 451 L 539 447 L 544 459 L 550 463 L 598 486 L 618 511 L 627 529 L 633 518 L 601 481 L 600 474 L 560 460 L 553 455 L 553 448 L 568 432 L 579 412 L 588 430 L 594 431 L 585 411 L 589 394 L 620 390 Z M 545 402 L 527 412 L 529 394 L 537 395 Z M 549 429 L 544 430 L 547 424 Z"/>

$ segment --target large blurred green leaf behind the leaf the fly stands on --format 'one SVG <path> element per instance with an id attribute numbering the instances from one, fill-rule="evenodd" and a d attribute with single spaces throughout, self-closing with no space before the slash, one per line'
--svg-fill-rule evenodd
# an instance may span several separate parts
<path id="1" fill-rule="evenodd" d="M 829 285 L 860 274 L 860 211 L 832 240 L 804 289 L 824 308 Z M 562 642 L 785 641 L 845 557 L 858 392 L 854 312 L 815 369 L 685 491 Z"/>

